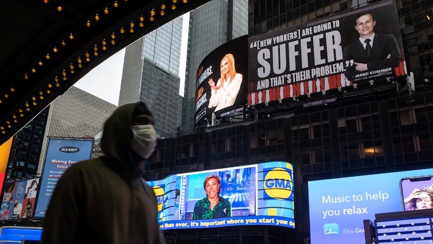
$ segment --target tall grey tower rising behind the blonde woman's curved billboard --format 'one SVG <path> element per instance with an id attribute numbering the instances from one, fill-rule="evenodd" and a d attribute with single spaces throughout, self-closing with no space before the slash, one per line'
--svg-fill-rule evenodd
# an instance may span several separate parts
<path id="1" fill-rule="evenodd" d="M 247 34 L 247 8 L 244 0 L 214 0 L 190 13 L 182 130 L 194 127 L 198 65 L 213 49 Z"/>

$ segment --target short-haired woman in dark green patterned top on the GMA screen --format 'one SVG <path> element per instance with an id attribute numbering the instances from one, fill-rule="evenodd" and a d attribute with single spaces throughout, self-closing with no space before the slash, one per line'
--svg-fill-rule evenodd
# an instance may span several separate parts
<path id="1" fill-rule="evenodd" d="M 220 197 L 221 180 L 217 175 L 210 175 L 204 179 L 203 187 L 206 197 L 198 200 L 194 206 L 192 219 L 211 219 L 232 216 L 232 205 Z"/>

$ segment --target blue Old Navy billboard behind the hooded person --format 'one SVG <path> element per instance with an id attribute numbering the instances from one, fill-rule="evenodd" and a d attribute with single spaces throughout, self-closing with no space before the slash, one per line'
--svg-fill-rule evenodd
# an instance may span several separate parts
<path id="1" fill-rule="evenodd" d="M 35 217 L 45 217 L 57 181 L 71 165 L 90 158 L 92 145 L 89 139 L 48 138 Z"/>

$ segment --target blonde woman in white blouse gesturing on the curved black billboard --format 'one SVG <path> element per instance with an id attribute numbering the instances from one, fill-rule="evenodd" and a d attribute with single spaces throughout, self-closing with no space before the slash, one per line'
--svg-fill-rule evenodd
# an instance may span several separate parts
<path id="1" fill-rule="evenodd" d="M 221 77 L 217 84 L 210 78 L 207 82 L 210 86 L 209 108 L 215 108 L 215 112 L 235 104 L 236 97 L 242 84 L 242 74 L 236 72 L 235 57 L 226 54 L 220 64 Z"/>

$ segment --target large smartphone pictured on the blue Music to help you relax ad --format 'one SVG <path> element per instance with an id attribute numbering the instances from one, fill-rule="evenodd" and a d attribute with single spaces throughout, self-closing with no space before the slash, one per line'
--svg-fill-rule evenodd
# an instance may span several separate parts
<path id="1" fill-rule="evenodd" d="M 401 179 L 400 194 L 404 211 L 433 209 L 433 176 Z"/>

